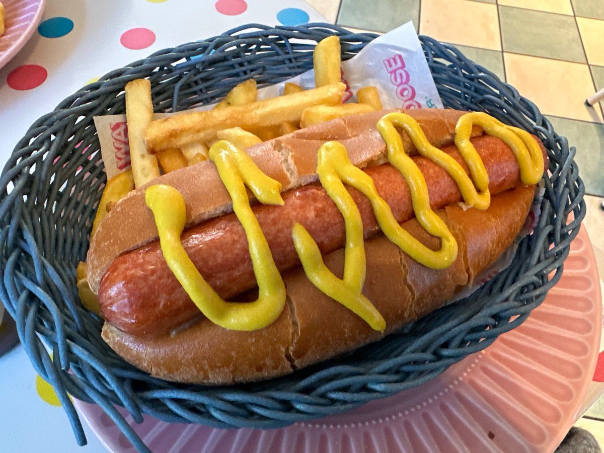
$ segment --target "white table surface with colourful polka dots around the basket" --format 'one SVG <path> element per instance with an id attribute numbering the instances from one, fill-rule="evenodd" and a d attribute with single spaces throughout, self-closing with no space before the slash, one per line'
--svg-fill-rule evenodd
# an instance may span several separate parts
<path id="1" fill-rule="evenodd" d="M 5 1 L 7 5 L 18 3 Z M 37 118 L 112 69 L 163 48 L 216 36 L 242 24 L 297 25 L 333 20 L 300 0 L 40 0 L 37 3 L 41 13 L 39 24 L 33 25 L 31 37 L 0 68 L 3 166 Z M 590 201 L 593 207 L 586 220 L 588 233 L 591 233 L 589 224 L 593 228 L 601 225 L 594 217 L 602 214 L 597 212 L 597 202 L 598 199 Z M 603 392 L 604 384 L 594 381 L 577 417 Z M 105 446 L 86 423 L 84 430 L 88 445 L 79 448 L 53 390 L 37 376 L 22 345 L 0 357 L 0 451 L 105 452 Z"/>

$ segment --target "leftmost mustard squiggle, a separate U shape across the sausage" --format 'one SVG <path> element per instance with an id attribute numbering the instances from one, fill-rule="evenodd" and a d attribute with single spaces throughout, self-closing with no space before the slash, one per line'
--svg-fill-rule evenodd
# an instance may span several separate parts
<path id="1" fill-rule="evenodd" d="M 187 211 L 184 198 L 178 190 L 165 184 L 152 185 L 145 191 L 145 202 L 155 216 L 165 262 L 199 310 L 214 324 L 225 329 L 262 329 L 277 320 L 283 311 L 285 284 L 272 259 L 260 224 L 249 206 L 245 185 L 260 202 L 283 205 L 281 184 L 262 173 L 246 153 L 227 141 L 217 141 L 209 154 L 233 199 L 233 211 L 248 237 L 249 254 L 258 281 L 257 300 L 249 303 L 226 302 L 195 268 L 181 243 Z"/>

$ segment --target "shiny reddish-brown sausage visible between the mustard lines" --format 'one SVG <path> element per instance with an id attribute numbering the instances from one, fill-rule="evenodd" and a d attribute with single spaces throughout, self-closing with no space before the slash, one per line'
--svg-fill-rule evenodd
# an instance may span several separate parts
<path id="1" fill-rule="evenodd" d="M 483 136 L 472 139 L 472 143 L 489 173 L 489 189 L 493 194 L 520 184 L 518 162 L 503 141 Z M 443 150 L 466 168 L 455 146 Z M 457 184 L 445 170 L 429 159 L 420 156 L 413 159 L 425 176 L 434 210 L 461 201 Z M 382 164 L 365 172 L 399 223 L 414 217 L 408 186 L 396 169 Z M 361 211 L 365 237 L 370 237 L 378 230 L 370 203 L 355 189 L 349 191 Z M 294 222 L 307 228 L 323 254 L 342 247 L 344 221 L 320 185 L 287 191 L 283 199 L 283 207 L 259 204 L 253 207 L 280 271 L 299 264 L 291 239 Z M 245 232 L 234 214 L 188 229 L 182 243 L 205 280 L 221 297 L 231 298 L 255 287 Z M 165 264 L 157 240 L 117 257 L 101 278 L 98 298 L 106 321 L 132 335 L 160 335 L 200 314 Z"/>

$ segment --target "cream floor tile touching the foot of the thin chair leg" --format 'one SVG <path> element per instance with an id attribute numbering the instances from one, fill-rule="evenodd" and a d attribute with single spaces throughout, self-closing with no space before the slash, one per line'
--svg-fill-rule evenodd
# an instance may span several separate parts
<path id="1" fill-rule="evenodd" d="M 600 108 L 585 105 L 594 93 L 588 65 L 526 55 L 503 54 L 507 83 L 547 115 L 602 123 Z"/>

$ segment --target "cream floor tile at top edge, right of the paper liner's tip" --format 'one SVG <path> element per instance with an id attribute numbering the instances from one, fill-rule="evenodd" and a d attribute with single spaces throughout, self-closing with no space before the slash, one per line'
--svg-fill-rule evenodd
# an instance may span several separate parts
<path id="1" fill-rule="evenodd" d="M 469 0 L 423 0 L 420 33 L 439 41 L 501 50 L 496 5 Z"/>

